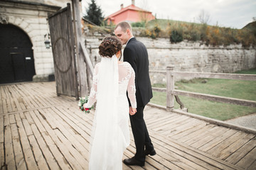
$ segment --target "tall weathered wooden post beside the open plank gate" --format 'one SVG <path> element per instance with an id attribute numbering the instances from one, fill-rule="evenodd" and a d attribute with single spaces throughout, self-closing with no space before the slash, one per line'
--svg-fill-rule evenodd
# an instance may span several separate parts
<path id="1" fill-rule="evenodd" d="M 73 23 L 74 23 L 74 31 L 75 31 L 75 52 L 77 57 L 78 63 L 78 78 L 79 78 L 79 96 L 87 96 L 89 94 L 89 89 L 87 86 L 87 66 L 84 60 L 84 57 L 81 54 L 81 37 L 82 37 L 82 30 L 81 30 L 81 18 L 80 18 L 80 7 L 79 7 L 79 0 L 72 0 L 73 6 Z"/>

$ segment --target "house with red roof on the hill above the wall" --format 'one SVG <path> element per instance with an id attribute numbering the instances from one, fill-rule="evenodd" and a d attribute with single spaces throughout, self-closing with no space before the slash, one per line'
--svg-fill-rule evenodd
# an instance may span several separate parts
<path id="1" fill-rule="evenodd" d="M 115 13 L 112 13 L 110 16 L 107 16 L 105 20 L 107 20 L 107 24 L 114 24 L 121 21 L 127 21 L 128 23 L 135 23 L 141 21 L 151 21 L 155 17 L 152 15 L 150 11 L 146 11 L 142 8 L 139 8 L 134 5 L 134 0 L 132 0 L 132 4 L 125 7 L 121 4 L 121 9 Z"/>

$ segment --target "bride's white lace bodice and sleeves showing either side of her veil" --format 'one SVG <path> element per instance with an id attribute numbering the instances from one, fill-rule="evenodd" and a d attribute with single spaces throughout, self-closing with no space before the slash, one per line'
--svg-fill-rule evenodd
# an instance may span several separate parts
<path id="1" fill-rule="evenodd" d="M 94 74 L 92 77 L 92 89 L 90 91 L 90 96 L 86 108 L 92 107 L 92 105 L 97 100 L 97 77 L 99 71 L 100 63 L 95 65 Z M 128 62 L 122 62 L 118 64 L 119 72 L 119 96 L 126 96 L 128 92 L 129 101 L 132 105 L 132 108 L 137 108 L 136 101 L 136 88 L 135 88 L 135 73 L 134 69 Z"/>

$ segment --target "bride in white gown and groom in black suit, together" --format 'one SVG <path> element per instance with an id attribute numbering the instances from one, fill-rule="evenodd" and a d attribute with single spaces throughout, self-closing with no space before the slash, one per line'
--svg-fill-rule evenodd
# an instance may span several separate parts
<path id="1" fill-rule="evenodd" d="M 89 169 L 122 169 L 129 146 L 129 118 L 136 154 L 124 164 L 144 166 L 146 155 L 156 154 L 143 118 L 152 98 L 149 57 L 145 45 L 134 38 L 127 22 L 114 28 L 116 37 L 106 37 L 99 46 L 101 62 L 95 65 L 92 89 L 84 108 L 97 101 L 90 139 Z M 124 47 L 124 62 L 122 58 Z"/>

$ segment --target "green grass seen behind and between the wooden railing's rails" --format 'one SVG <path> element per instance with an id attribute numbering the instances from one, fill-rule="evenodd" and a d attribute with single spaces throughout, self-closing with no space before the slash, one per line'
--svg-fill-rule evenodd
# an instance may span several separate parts
<path id="1" fill-rule="evenodd" d="M 256 74 L 256 69 L 236 72 L 238 74 Z M 192 91 L 201 94 L 213 94 L 216 96 L 226 96 L 256 101 L 256 81 L 240 81 L 228 79 L 207 79 L 207 83 L 202 83 L 204 79 L 192 79 L 190 81 L 177 81 L 175 86 L 178 90 Z M 165 84 L 154 84 L 155 87 L 165 87 Z M 151 103 L 166 106 L 166 93 L 153 91 Z M 228 120 L 231 118 L 256 113 L 256 108 L 238 106 L 227 103 L 201 100 L 179 96 L 182 103 L 188 108 L 189 113 L 203 115 L 217 120 Z M 174 108 L 179 108 L 175 102 Z"/>

